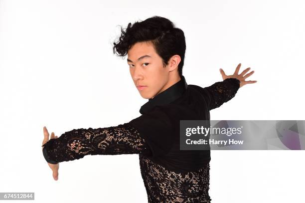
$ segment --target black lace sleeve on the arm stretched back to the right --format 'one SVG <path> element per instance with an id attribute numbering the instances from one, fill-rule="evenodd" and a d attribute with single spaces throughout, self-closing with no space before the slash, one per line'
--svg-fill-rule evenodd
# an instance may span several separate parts
<path id="1" fill-rule="evenodd" d="M 209 110 L 220 107 L 223 103 L 232 99 L 239 89 L 240 81 L 236 78 L 227 78 L 203 88 L 207 95 Z"/>

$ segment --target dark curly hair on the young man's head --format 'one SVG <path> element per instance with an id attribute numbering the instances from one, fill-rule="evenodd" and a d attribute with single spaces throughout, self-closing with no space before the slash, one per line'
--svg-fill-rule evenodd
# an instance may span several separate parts
<path id="1" fill-rule="evenodd" d="M 168 65 L 171 56 L 177 54 L 181 61 L 178 64 L 178 73 L 182 75 L 185 55 L 184 32 L 174 26 L 169 19 L 152 16 L 144 21 L 128 23 L 126 29 L 121 27 L 119 41 L 114 42 L 113 53 L 118 56 L 127 55 L 128 50 L 137 42 L 151 42 L 156 53 L 162 58 L 163 66 Z"/>

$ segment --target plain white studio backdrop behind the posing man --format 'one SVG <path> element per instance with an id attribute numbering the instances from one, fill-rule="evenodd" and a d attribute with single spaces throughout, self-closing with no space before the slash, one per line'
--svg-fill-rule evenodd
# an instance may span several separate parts
<path id="1" fill-rule="evenodd" d="M 60 136 L 140 116 L 147 102 L 127 57 L 113 54 L 120 26 L 167 17 L 186 37 L 183 75 L 202 87 L 255 70 L 211 120 L 305 120 L 303 0 L 0 0 L 0 192 L 35 202 L 145 203 L 138 155 L 62 162 L 54 181 L 43 126 Z M 249 72 L 250 72 L 249 71 Z M 213 203 L 303 203 L 304 151 L 212 151 Z"/>

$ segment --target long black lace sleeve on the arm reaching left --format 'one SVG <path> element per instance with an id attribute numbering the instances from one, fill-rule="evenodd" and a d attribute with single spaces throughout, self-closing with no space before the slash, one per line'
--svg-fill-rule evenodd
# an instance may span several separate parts
<path id="1" fill-rule="evenodd" d="M 97 129 L 73 129 L 45 143 L 43 156 L 48 163 L 81 159 L 86 155 L 149 153 L 139 131 L 130 123 Z"/>

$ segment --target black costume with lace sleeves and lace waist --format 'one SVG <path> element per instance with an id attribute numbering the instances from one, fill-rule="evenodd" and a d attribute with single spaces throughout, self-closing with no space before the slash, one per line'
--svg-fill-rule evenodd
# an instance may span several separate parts
<path id="1" fill-rule="evenodd" d="M 209 150 L 179 150 L 180 120 L 210 120 L 209 110 L 233 98 L 240 81 L 209 87 L 181 80 L 144 104 L 140 117 L 114 127 L 74 129 L 43 146 L 47 162 L 86 155 L 139 154 L 149 203 L 210 203 Z"/>

